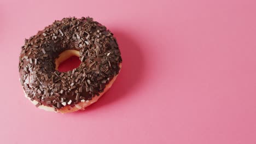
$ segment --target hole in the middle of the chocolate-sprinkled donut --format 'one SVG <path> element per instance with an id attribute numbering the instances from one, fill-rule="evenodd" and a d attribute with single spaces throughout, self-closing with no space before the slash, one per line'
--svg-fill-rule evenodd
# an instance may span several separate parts
<path id="1" fill-rule="evenodd" d="M 66 72 L 79 67 L 80 63 L 79 51 L 66 50 L 60 53 L 59 57 L 55 59 L 55 69 L 60 72 Z"/>

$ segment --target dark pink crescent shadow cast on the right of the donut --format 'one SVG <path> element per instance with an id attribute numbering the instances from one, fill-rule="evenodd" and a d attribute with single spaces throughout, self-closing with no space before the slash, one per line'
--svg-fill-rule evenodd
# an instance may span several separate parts
<path id="1" fill-rule="evenodd" d="M 138 42 L 135 38 L 132 38 L 131 34 L 121 32 L 118 29 L 112 32 L 114 37 L 117 38 L 123 59 L 122 68 L 117 80 L 95 104 L 86 107 L 84 111 L 74 113 L 86 113 L 95 109 L 103 109 L 103 106 L 115 103 L 120 99 L 125 99 L 127 96 L 131 96 L 129 93 L 135 91 L 143 79 L 144 59 Z"/>

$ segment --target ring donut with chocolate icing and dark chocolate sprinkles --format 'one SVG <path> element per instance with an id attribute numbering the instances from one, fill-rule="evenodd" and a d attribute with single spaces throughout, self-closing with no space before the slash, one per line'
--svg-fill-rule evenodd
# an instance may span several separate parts
<path id="1" fill-rule="evenodd" d="M 71 56 L 80 65 L 66 72 L 60 63 Z M 22 88 L 36 107 L 60 113 L 84 110 L 112 86 L 121 69 L 117 39 L 91 17 L 55 20 L 25 39 L 19 57 Z"/>

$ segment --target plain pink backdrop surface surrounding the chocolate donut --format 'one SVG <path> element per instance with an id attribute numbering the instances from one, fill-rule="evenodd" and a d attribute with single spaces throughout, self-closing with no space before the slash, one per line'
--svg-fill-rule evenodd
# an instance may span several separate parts
<path id="1" fill-rule="evenodd" d="M 256 143 L 256 1 L 0 1 L 0 143 Z M 24 39 L 91 16 L 123 69 L 86 111 L 37 109 L 19 83 Z"/>

